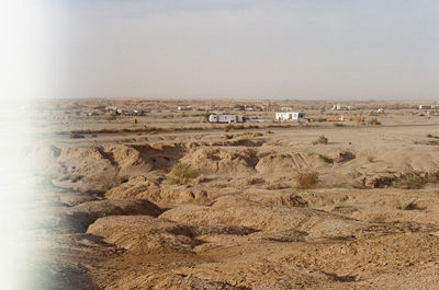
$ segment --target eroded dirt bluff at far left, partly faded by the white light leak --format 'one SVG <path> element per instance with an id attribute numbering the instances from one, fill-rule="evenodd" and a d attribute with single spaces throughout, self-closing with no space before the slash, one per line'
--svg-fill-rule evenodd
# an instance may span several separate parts
<path id="1" fill-rule="evenodd" d="M 184 148 L 173 146 L 113 146 L 41 150 L 48 164 L 43 174 L 54 185 L 81 193 L 104 193 L 131 176 L 168 171 Z"/>

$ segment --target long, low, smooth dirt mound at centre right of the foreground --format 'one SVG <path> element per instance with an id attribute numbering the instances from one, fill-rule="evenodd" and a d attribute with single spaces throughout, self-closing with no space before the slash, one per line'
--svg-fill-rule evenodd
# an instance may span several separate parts
<path id="1" fill-rule="evenodd" d="M 324 211 L 264 205 L 237 196 L 222 197 L 212 207 L 180 206 L 160 218 L 203 225 L 239 224 L 264 231 L 296 230 L 311 236 L 350 235 L 363 225 Z"/>

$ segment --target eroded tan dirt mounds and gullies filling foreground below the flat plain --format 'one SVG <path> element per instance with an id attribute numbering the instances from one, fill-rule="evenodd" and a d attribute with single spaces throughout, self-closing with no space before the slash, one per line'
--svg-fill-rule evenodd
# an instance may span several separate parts
<path id="1" fill-rule="evenodd" d="M 425 289 L 436 285 L 434 177 L 425 189 L 395 188 L 406 173 L 439 167 L 434 149 L 372 159 L 260 144 L 41 149 L 38 175 L 56 188 L 35 221 L 55 236 L 53 267 L 68 272 L 53 278 L 88 281 L 82 289 L 421 289 L 417 272 Z M 177 163 L 196 174 L 170 182 Z M 296 188 L 301 171 L 319 173 L 316 188 Z"/>

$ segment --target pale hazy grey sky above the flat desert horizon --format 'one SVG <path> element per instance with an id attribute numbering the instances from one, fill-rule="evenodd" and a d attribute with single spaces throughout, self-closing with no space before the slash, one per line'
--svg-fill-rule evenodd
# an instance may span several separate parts
<path id="1" fill-rule="evenodd" d="M 438 0 L 22 3 L 37 96 L 439 98 Z"/>

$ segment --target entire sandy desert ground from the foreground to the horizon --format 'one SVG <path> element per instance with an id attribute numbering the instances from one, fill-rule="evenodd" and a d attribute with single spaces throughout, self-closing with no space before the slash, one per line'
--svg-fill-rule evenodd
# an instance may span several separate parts
<path id="1" fill-rule="evenodd" d="M 439 116 L 413 102 L 255 103 L 269 111 L 241 114 L 364 120 L 230 128 L 176 107 L 251 102 L 38 104 L 29 288 L 439 289 Z M 111 119 L 106 105 L 148 115 Z M 193 178 L 171 182 L 176 163 Z M 300 173 L 317 184 L 300 189 Z"/>

